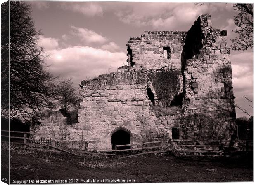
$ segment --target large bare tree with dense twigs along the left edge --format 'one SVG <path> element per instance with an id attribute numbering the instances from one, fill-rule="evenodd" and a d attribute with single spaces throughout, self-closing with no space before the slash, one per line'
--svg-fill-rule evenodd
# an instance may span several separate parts
<path id="1" fill-rule="evenodd" d="M 3 24 L 1 30 L 5 32 L 9 27 L 10 35 L 7 37 L 10 42 L 2 42 L 1 51 L 9 51 L 10 58 L 9 65 L 2 66 L 1 75 L 7 78 L 6 74 L 9 74 L 10 82 L 1 89 L 3 96 L 9 96 L 2 99 L 1 117 L 31 120 L 43 107 L 52 106 L 53 78 L 44 63 L 43 48 L 37 45 L 40 31 L 36 30 L 31 18 L 30 5 L 22 1 L 9 1 L 3 6 L 7 6 L 1 6 L 4 11 L 10 8 L 10 27 Z"/>

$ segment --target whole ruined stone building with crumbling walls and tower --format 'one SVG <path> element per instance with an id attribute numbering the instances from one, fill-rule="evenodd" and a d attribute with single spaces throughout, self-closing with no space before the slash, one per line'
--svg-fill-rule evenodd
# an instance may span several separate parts
<path id="1" fill-rule="evenodd" d="M 173 128 L 178 139 L 230 139 L 235 120 L 230 49 L 227 32 L 212 28 L 209 14 L 187 32 L 145 31 L 126 45 L 128 66 L 81 81 L 78 123 L 62 123 L 56 138 L 102 150 L 112 148 L 118 130 L 130 134 L 130 143 L 172 139 Z M 152 80 L 159 72 L 175 72 L 178 79 L 167 107 Z M 44 122 L 35 137 L 52 124 Z"/>

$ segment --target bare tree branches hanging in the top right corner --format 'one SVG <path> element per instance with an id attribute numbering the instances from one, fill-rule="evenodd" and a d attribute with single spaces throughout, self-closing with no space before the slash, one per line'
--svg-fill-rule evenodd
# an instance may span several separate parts
<path id="1" fill-rule="evenodd" d="M 233 30 L 234 33 L 239 34 L 239 37 L 232 39 L 233 50 L 247 50 L 254 45 L 253 41 L 253 4 L 234 4 L 234 9 L 238 14 L 234 16 L 235 25 L 238 29 Z"/>

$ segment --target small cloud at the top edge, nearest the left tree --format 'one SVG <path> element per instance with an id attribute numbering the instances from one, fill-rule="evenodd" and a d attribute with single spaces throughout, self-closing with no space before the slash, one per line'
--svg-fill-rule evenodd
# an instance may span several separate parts
<path id="1" fill-rule="evenodd" d="M 96 3 L 75 3 L 75 2 L 65 2 L 60 6 L 62 9 L 71 10 L 73 12 L 78 12 L 84 16 L 103 16 L 103 9 L 100 5 Z"/>

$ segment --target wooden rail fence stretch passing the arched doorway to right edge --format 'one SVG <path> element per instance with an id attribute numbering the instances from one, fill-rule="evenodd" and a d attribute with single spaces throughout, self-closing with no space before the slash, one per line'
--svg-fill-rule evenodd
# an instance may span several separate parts
<path id="1" fill-rule="evenodd" d="M 238 143 L 243 143 L 240 147 Z M 95 152 L 128 152 L 128 151 L 145 151 L 157 150 L 159 152 L 171 151 L 176 154 L 183 155 L 204 155 L 214 154 L 222 155 L 225 152 L 225 148 L 228 148 L 232 144 L 233 147 L 236 147 L 238 151 L 249 152 L 253 150 L 253 141 L 252 140 L 208 140 L 208 141 L 199 141 L 199 140 L 189 140 L 189 139 L 169 139 L 168 141 L 152 141 L 145 143 L 134 143 L 127 145 L 116 145 L 114 150 L 111 149 L 102 149 L 102 148 L 88 148 L 90 151 Z M 153 145 L 153 146 L 149 146 Z M 116 149 L 119 147 L 130 146 L 130 149 Z M 150 151 L 149 153 L 155 153 Z M 137 155 L 137 154 L 136 154 Z"/>

